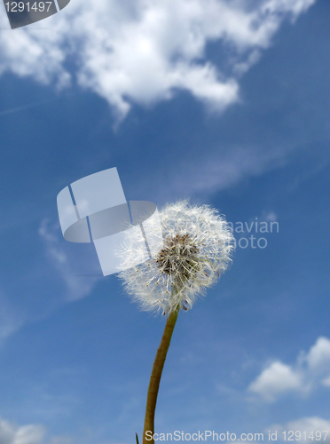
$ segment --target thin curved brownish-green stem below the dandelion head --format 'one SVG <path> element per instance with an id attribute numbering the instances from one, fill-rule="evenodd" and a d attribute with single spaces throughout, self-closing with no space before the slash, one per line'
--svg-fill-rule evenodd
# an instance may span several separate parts
<path id="1" fill-rule="evenodd" d="M 145 408 L 145 429 L 143 432 L 143 444 L 154 444 L 154 411 L 156 409 L 157 395 L 161 382 L 161 372 L 164 367 L 166 355 L 169 350 L 170 339 L 172 337 L 173 329 L 177 322 L 177 315 L 180 307 L 177 306 L 176 310 L 169 312 L 168 319 L 166 321 L 164 333 L 161 337 L 161 344 L 158 347 L 156 357 L 153 361 L 153 369 L 150 377 L 148 394 L 146 398 Z M 145 433 L 148 432 L 147 435 Z M 152 437 L 152 439 L 150 439 Z"/>

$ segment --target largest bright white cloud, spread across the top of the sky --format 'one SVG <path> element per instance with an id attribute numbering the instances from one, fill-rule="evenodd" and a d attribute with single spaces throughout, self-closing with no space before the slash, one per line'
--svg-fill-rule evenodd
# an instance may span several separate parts
<path id="1" fill-rule="evenodd" d="M 43 20 L 0 32 L 0 73 L 31 76 L 66 86 L 72 76 L 97 92 L 118 118 L 137 102 L 170 99 L 190 91 L 213 109 L 239 99 L 239 77 L 271 44 L 286 18 L 295 20 L 315 0 L 120 0 L 72 1 Z M 0 18 L 1 28 L 9 28 Z M 50 29 L 35 29 L 47 27 Z M 226 66 L 207 59 L 209 42 L 231 48 Z M 75 68 L 69 72 L 67 59 Z"/>

